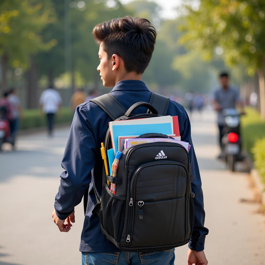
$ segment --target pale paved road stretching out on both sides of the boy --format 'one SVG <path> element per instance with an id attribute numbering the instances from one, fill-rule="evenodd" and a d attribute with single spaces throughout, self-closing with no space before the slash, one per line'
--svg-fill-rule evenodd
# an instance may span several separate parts
<path id="1" fill-rule="evenodd" d="M 17 151 L 6 145 L 0 153 L 0 265 L 81 263 L 82 204 L 69 233 L 60 233 L 51 218 L 68 131 L 57 130 L 54 138 L 21 136 Z M 205 244 L 209 264 L 265 264 L 265 217 L 257 213 L 258 204 L 240 202 L 253 198 L 248 174 L 229 173 L 215 159 L 214 114 L 195 114 L 192 135 L 210 230 Z M 186 253 L 187 246 L 177 248 L 175 264 L 187 264 Z"/>

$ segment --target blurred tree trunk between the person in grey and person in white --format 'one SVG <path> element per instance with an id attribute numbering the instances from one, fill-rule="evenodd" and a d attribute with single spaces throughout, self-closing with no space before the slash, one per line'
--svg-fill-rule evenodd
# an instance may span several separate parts
<path id="1" fill-rule="evenodd" d="M 29 56 L 30 67 L 28 70 L 28 102 L 27 107 L 29 109 L 38 107 L 38 91 L 37 91 L 37 67 L 34 62 L 34 57 L 31 54 Z"/>

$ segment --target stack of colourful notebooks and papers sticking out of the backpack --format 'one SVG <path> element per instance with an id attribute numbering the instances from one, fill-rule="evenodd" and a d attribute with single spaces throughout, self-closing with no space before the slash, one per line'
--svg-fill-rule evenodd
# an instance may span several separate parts
<path id="1" fill-rule="evenodd" d="M 153 142 L 176 142 L 189 151 L 190 145 L 180 139 L 178 116 L 161 116 L 135 120 L 109 122 L 111 141 L 114 154 L 134 145 Z M 171 138 L 137 138 L 146 133 L 159 133 Z"/>

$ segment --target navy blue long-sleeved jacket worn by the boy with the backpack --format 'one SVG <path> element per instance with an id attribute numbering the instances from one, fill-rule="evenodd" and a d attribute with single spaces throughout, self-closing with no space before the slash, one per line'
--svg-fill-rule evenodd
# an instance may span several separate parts
<path id="1" fill-rule="evenodd" d="M 110 92 L 128 109 L 138 101 L 149 102 L 151 92 L 144 82 L 126 80 L 118 82 Z M 136 109 L 135 114 L 146 113 L 144 107 Z M 204 227 L 204 205 L 201 189 L 200 172 L 191 141 L 191 125 L 182 105 L 170 101 L 167 115 L 178 116 L 181 140 L 189 142 L 191 149 L 189 158 L 193 173 L 192 191 L 195 193 L 195 223 L 189 248 L 197 251 L 204 249 L 205 235 L 208 229 Z M 55 197 L 57 216 L 64 220 L 78 205 L 89 187 L 88 203 L 81 235 L 80 251 L 84 252 L 113 252 L 119 249 L 108 241 L 100 231 L 99 218 L 91 213 L 96 204 L 92 186 L 94 180 L 96 191 L 101 193 L 102 187 L 102 157 L 100 143 L 105 142 L 108 122 L 111 118 L 92 102 L 79 105 L 74 114 L 67 145 L 61 166 L 59 192 Z"/>

